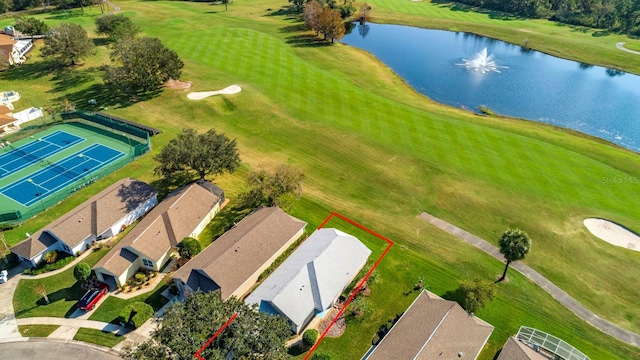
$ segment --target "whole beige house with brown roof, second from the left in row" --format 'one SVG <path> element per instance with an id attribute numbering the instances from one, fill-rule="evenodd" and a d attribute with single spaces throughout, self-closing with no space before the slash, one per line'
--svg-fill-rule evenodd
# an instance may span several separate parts
<path id="1" fill-rule="evenodd" d="M 159 271 L 171 249 L 198 237 L 223 202 L 224 191 L 206 181 L 173 191 L 93 267 L 98 280 L 113 289 L 140 268 Z"/>

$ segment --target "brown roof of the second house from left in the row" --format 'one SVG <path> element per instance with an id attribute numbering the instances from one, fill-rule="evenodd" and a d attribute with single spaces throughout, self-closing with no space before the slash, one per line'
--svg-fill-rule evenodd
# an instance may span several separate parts
<path id="1" fill-rule="evenodd" d="M 173 191 L 93 268 L 121 274 L 135 261 L 124 250 L 157 262 L 189 236 L 219 201 L 220 198 L 196 183 Z"/>

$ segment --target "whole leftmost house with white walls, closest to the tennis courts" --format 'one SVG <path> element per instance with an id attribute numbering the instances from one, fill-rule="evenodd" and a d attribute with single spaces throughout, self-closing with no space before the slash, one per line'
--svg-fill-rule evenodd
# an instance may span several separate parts
<path id="1" fill-rule="evenodd" d="M 44 229 L 11 248 L 20 260 L 36 266 L 47 251 L 77 255 L 94 241 L 124 230 L 158 203 L 156 191 L 135 179 L 122 179 Z"/>

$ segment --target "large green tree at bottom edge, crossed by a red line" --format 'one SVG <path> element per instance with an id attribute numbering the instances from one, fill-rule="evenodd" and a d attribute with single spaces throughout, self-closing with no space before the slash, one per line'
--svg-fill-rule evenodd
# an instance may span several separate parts
<path id="1" fill-rule="evenodd" d="M 232 297 L 222 301 L 219 292 L 195 293 L 184 302 L 170 305 L 159 320 L 151 340 L 125 349 L 125 359 L 193 359 L 224 323 L 239 315 L 200 354 L 208 360 L 288 359 L 285 341 L 291 330 L 284 318 L 260 313 Z"/>

